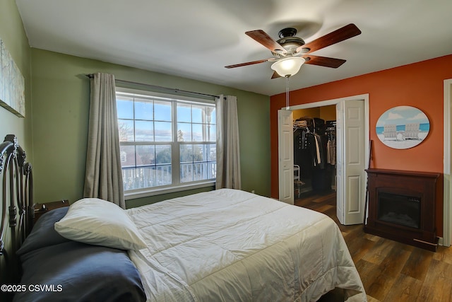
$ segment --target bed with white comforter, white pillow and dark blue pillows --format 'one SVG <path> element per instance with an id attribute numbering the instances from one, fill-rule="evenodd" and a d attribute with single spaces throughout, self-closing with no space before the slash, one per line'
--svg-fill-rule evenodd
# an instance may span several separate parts
<path id="1" fill-rule="evenodd" d="M 241 190 L 127 210 L 81 199 L 42 215 L 17 255 L 14 301 L 318 301 L 335 288 L 367 301 L 333 220 Z"/>

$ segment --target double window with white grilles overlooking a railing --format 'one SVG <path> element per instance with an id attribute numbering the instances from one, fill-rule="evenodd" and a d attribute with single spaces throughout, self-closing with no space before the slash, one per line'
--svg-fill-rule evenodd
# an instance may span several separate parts
<path id="1" fill-rule="evenodd" d="M 117 88 L 117 109 L 126 195 L 215 180 L 213 101 Z"/>

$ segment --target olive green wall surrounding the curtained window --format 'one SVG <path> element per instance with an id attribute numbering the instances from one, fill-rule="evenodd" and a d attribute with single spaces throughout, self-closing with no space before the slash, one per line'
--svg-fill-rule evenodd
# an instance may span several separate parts
<path id="1" fill-rule="evenodd" d="M 236 95 L 242 189 L 270 196 L 270 98 L 247 91 L 142 69 L 32 49 L 32 133 L 35 200 L 74 202 L 83 197 L 90 81 L 105 72 L 116 79 L 212 95 Z M 191 191 L 199 192 L 199 190 Z M 127 207 L 179 194 L 126 201 Z"/>

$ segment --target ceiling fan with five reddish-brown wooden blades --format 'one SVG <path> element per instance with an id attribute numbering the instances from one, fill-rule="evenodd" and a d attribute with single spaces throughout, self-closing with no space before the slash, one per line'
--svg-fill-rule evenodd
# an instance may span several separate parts
<path id="1" fill-rule="evenodd" d="M 355 24 L 345 25 L 343 28 L 334 30 L 331 33 L 323 35 L 314 41 L 305 43 L 301 37 L 296 37 L 297 30 L 295 28 L 284 28 L 278 33 L 280 39 L 273 40 L 266 32 L 263 30 L 251 30 L 247 31 L 245 34 L 252 37 L 257 42 L 261 43 L 264 47 L 268 48 L 273 54 L 273 58 L 260 59 L 257 61 L 246 62 L 241 64 L 234 64 L 225 66 L 226 68 L 235 68 L 240 66 L 248 66 L 252 64 L 259 64 L 263 62 L 281 62 L 282 59 L 290 57 L 302 57 L 304 62 L 301 62 L 299 66 L 303 63 L 313 64 L 318 66 L 326 66 L 331 68 L 338 68 L 340 65 L 345 63 L 345 59 L 335 59 L 331 57 L 320 57 L 310 54 L 316 50 L 321 50 L 324 47 L 333 45 L 335 43 L 341 42 L 343 40 L 350 39 L 350 37 L 355 37 L 359 35 L 361 30 L 357 28 Z M 303 60 L 302 60 L 303 61 Z M 272 66 L 273 69 L 273 66 Z M 298 68 L 299 69 L 299 68 Z M 298 70 L 297 70 L 298 71 Z M 296 72 L 297 72 L 296 71 Z M 295 72 L 295 73 L 296 73 Z M 292 75 L 292 74 L 291 74 Z M 280 76 L 287 76 L 278 74 L 276 71 L 273 73 L 272 79 L 278 78 Z M 290 75 L 289 75 L 290 76 Z"/>

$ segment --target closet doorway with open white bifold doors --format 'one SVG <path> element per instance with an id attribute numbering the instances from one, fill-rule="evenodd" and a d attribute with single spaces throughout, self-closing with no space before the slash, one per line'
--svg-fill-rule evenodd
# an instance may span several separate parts
<path id="1" fill-rule="evenodd" d="M 297 171 L 295 161 L 298 161 L 299 158 L 295 160 L 294 152 L 295 149 L 302 146 L 299 146 L 298 137 L 297 141 L 294 141 L 296 136 L 293 134 L 296 129 L 293 122 L 300 118 L 299 115 L 313 115 L 313 120 L 314 115 L 319 115 L 316 117 L 319 119 L 317 120 L 319 123 L 321 120 L 325 120 L 323 126 L 318 125 L 319 129 L 316 129 L 316 132 L 319 134 L 320 131 L 326 140 L 335 139 L 335 164 L 323 165 L 323 168 L 326 169 L 317 169 L 312 173 L 312 171 L 303 169 L 314 167 L 308 167 L 304 163 L 298 165 L 300 170 Z M 326 123 L 327 121 L 328 123 Z M 295 125 L 295 127 L 297 126 Z M 298 192 L 303 194 L 308 190 L 336 190 L 337 214 L 340 223 L 362 223 L 367 180 L 364 169 L 368 165 L 366 158 L 369 158 L 369 95 L 355 95 L 348 98 L 296 105 L 290 107 L 290 110 L 283 108 L 278 112 L 278 131 L 280 200 L 293 204 L 297 197 L 295 194 Z M 317 143 L 314 141 L 314 144 L 319 144 L 319 141 Z M 320 156 L 316 151 L 312 154 Z M 326 161 L 326 157 L 323 160 Z M 318 158 L 316 162 L 319 163 Z M 298 175 L 300 182 L 297 182 Z M 305 178 L 309 175 L 311 178 Z M 299 187 L 297 188 L 297 186 Z M 297 191 L 297 189 L 299 190 Z"/>

